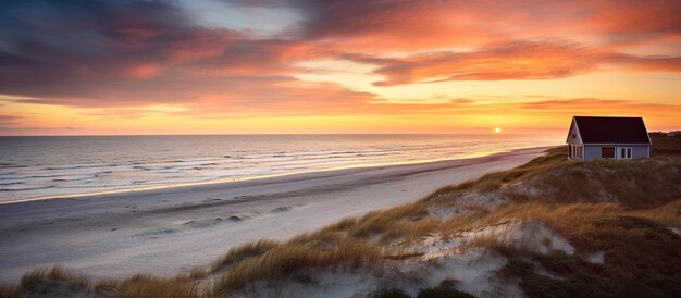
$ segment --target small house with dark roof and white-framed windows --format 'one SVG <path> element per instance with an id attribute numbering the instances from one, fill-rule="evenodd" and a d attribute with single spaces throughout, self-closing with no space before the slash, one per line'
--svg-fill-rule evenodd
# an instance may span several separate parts
<path id="1" fill-rule="evenodd" d="M 573 116 L 568 134 L 573 160 L 651 157 L 651 137 L 642 117 Z"/>

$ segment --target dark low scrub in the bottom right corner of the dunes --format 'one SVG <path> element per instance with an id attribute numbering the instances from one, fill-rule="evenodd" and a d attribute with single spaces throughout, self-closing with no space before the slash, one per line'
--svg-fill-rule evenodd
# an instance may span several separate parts
<path id="1" fill-rule="evenodd" d="M 507 247 L 500 250 L 509 259 L 503 274 L 519 280 L 529 297 L 681 297 L 681 237 L 641 218 L 605 216 L 583 224 L 597 228 L 587 228 L 572 243 L 604 251 L 603 263 L 579 253 Z"/>

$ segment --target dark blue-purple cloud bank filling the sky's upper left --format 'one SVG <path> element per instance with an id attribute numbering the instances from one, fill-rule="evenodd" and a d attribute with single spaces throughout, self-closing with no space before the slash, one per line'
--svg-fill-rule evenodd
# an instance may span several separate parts
<path id="1" fill-rule="evenodd" d="M 184 101 L 288 70 L 283 55 L 296 48 L 197 26 L 169 1 L 3 2 L 0 18 L 0 92 L 46 103 Z"/>

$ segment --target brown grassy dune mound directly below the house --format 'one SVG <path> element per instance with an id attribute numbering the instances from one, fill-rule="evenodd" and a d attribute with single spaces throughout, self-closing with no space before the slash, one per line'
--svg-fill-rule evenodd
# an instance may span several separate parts
<path id="1" fill-rule="evenodd" d="M 463 194 L 513 201 L 619 202 L 630 209 L 658 207 L 681 197 L 681 157 L 577 162 L 566 160 L 564 148 L 556 148 L 516 169 L 441 188 L 424 200 L 433 207 L 450 206 Z"/>

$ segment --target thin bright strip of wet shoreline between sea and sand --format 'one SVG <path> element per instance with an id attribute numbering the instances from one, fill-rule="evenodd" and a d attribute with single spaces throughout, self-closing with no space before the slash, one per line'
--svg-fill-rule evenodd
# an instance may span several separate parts
<path id="1" fill-rule="evenodd" d="M 59 199 L 95 197 L 95 196 L 103 196 L 103 195 L 116 195 L 116 194 L 125 194 L 125 193 L 153 191 L 153 190 L 174 189 L 174 188 L 182 188 L 182 187 L 196 187 L 196 186 L 214 185 L 214 184 L 218 184 L 218 185 L 233 184 L 233 183 L 240 183 L 240 182 L 278 178 L 278 177 L 304 175 L 304 174 L 336 172 L 336 171 L 344 171 L 344 170 L 368 170 L 372 167 L 384 167 L 384 166 L 429 164 L 429 163 L 437 163 L 437 162 L 448 162 L 448 161 L 456 161 L 456 160 L 469 160 L 469 159 L 475 159 L 475 158 L 484 158 L 484 157 L 490 157 L 494 154 L 500 154 L 500 153 L 506 153 L 506 152 L 511 152 L 511 151 L 522 150 L 522 149 L 534 149 L 534 148 L 548 149 L 553 147 L 555 146 L 511 147 L 511 148 L 505 148 L 502 150 L 481 152 L 481 153 L 468 156 L 465 158 L 414 160 L 414 161 L 405 161 L 405 162 L 395 162 L 395 163 L 369 163 L 369 164 L 361 164 L 361 165 L 346 165 L 346 166 L 337 166 L 337 167 L 321 169 L 321 170 L 309 170 L 309 171 L 297 171 L 297 172 L 278 173 L 278 174 L 245 176 L 245 177 L 239 177 L 239 178 L 218 178 L 218 179 L 186 182 L 186 183 L 176 183 L 176 184 L 168 184 L 168 185 L 149 185 L 149 186 L 139 186 L 139 187 L 134 187 L 134 188 L 120 188 L 120 189 L 112 189 L 112 190 L 88 191 L 88 193 L 67 194 L 67 195 L 41 196 L 41 197 L 32 197 L 32 198 L 25 198 L 25 199 L 13 199 L 13 200 L 0 201 L 0 206 L 24 203 L 24 202 L 32 202 L 32 201 L 41 201 L 41 200 L 59 200 Z"/>

